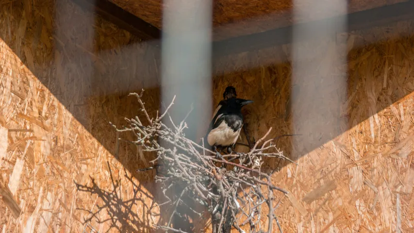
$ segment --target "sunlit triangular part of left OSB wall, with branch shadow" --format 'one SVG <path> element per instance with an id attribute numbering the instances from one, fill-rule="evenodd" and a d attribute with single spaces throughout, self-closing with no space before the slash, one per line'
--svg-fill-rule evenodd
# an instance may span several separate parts
<path id="1" fill-rule="evenodd" d="M 143 187 L 26 67 L 20 69 L 3 42 L 1 54 L 0 167 L 22 211 L 14 219 L 0 204 L 3 231 L 82 232 L 85 222 L 99 232 L 148 231 L 151 184 Z"/>

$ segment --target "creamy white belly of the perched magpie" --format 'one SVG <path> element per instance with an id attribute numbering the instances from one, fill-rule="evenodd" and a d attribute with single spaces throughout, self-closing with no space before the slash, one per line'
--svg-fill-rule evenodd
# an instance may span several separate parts
<path id="1" fill-rule="evenodd" d="M 230 146 L 236 143 L 240 130 L 241 128 L 234 132 L 223 120 L 217 128 L 210 131 L 207 136 L 207 142 L 210 146 L 213 146 L 214 144 Z"/>

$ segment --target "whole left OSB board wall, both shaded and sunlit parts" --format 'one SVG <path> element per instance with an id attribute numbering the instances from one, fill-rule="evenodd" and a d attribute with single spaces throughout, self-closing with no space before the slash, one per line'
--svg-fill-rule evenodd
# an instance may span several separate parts
<path id="1" fill-rule="evenodd" d="M 138 114 L 126 94 L 157 82 L 140 60 L 146 45 L 127 50 L 137 38 L 66 0 L 1 3 L 0 28 L 0 187 L 21 209 L 16 219 L 0 201 L 2 232 L 82 232 L 86 222 L 149 232 L 153 174 L 134 172 L 145 166 L 136 148 L 114 156 L 108 124 Z M 144 101 L 158 103 L 156 89 Z"/>

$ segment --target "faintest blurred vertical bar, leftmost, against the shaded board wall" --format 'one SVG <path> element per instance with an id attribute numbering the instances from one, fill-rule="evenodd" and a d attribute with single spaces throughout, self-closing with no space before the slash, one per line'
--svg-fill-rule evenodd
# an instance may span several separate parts
<path id="1" fill-rule="evenodd" d="M 66 0 L 56 0 L 55 7 L 57 93 L 61 103 L 86 126 L 89 123 L 86 103 L 94 75 L 91 54 L 94 53 L 95 13 L 79 11 L 78 5 Z"/>

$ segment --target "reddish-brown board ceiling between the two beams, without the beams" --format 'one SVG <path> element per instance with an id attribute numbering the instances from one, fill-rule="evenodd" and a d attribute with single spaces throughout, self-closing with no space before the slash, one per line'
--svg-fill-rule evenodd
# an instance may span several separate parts
<path id="1" fill-rule="evenodd" d="M 110 1 L 155 27 L 162 29 L 163 0 Z M 353 13 L 403 1 L 405 0 L 348 0 L 348 12 L 324 12 L 321 9 L 316 14 L 313 11 L 313 16 L 310 15 L 309 18 L 304 18 L 303 21 L 321 16 L 333 17 L 338 14 Z M 273 23 L 272 25 L 265 26 L 265 30 L 286 26 L 291 21 L 290 12 L 293 9 L 293 4 L 292 0 L 213 0 L 213 27 L 217 28 L 237 23 L 243 25 L 249 21 L 264 22 L 270 18 L 278 19 L 272 20 L 273 22 L 282 21 L 282 23 Z M 312 7 L 312 4 L 315 4 L 315 0 L 300 0 L 300 4 L 302 7 Z M 259 30 L 263 30 L 263 28 Z"/>

